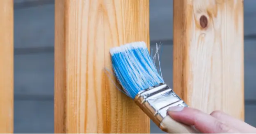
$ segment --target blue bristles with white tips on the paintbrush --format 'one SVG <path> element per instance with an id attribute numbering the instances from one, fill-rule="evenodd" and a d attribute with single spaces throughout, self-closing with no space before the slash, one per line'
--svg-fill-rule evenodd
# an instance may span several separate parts
<path id="1" fill-rule="evenodd" d="M 110 49 L 112 67 L 126 94 L 135 98 L 138 92 L 163 83 L 145 42 L 132 42 Z"/>

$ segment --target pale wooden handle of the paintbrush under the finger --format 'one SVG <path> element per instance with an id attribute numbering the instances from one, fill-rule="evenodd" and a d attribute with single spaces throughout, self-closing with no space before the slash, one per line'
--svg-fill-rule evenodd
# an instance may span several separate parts
<path id="1" fill-rule="evenodd" d="M 170 116 L 166 116 L 162 120 L 162 122 L 160 124 L 160 128 L 162 129 L 162 131 L 167 132 L 169 134 L 198 134 L 198 133 L 200 133 L 188 125 L 185 125 L 185 124 L 175 121 Z"/>

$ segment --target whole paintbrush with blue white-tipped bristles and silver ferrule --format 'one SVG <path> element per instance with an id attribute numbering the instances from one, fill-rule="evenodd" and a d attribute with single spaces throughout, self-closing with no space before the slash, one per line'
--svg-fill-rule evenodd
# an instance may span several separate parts
<path id="1" fill-rule="evenodd" d="M 167 133 L 198 133 L 193 127 L 178 123 L 168 114 L 171 106 L 187 104 L 165 84 L 149 55 L 145 42 L 131 42 L 110 49 L 114 74 L 123 93 Z"/>

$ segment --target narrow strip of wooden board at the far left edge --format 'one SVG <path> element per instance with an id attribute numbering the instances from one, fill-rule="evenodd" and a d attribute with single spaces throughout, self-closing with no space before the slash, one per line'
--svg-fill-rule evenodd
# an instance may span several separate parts
<path id="1" fill-rule="evenodd" d="M 0 0 L 0 133 L 13 133 L 13 0 Z"/>

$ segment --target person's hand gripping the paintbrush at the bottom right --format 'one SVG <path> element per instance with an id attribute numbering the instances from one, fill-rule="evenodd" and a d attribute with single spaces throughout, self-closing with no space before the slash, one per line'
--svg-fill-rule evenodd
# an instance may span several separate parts
<path id="1" fill-rule="evenodd" d="M 256 128 L 221 111 L 206 114 L 191 107 L 170 107 L 175 121 L 194 126 L 201 133 L 256 133 Z"/>

